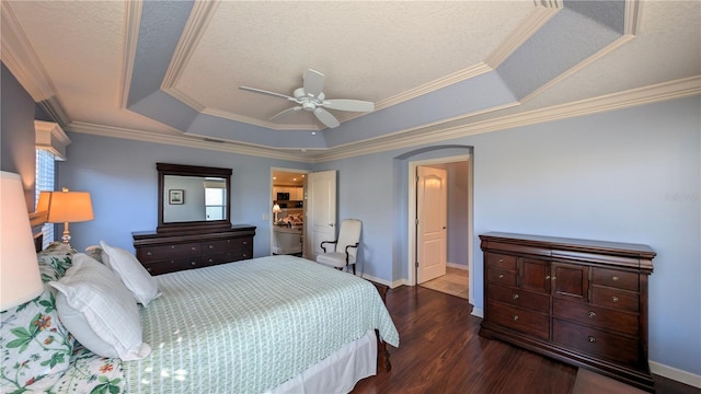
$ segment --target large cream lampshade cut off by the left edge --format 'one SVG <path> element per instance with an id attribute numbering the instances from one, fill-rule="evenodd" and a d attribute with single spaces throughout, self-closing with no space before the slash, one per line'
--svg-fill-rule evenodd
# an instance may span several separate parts
<path id="1" fill-rule="evenodd" d="M 20 175 L 0 172 L 0 311 L 44 291 Z"/>

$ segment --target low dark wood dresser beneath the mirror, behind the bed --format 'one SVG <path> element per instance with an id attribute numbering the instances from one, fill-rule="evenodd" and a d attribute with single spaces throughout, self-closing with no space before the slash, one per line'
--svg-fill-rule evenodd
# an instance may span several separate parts
<path id="1" fill-rule="evenodd" d="M 133 232 L 136 256 L 151 275 L 206 267 L 253 257 L 255 227 L 232 225 L 207 232 Z"/>

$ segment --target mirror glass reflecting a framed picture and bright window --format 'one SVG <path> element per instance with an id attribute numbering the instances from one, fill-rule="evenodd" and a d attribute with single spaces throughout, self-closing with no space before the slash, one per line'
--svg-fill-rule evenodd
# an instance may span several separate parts
<path id="1" fill-rule="evenodd" d="M 163 176 L 163 222 L 227 219 L 227 183 L 220 177 Z"/>

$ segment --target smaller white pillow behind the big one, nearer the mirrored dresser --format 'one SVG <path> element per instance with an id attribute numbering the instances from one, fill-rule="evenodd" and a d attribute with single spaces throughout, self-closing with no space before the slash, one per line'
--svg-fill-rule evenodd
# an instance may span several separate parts
<path id="1" fill-rule="evenodd" d="M 122 278 L 137 302 L 146 306 L 160 296 L 156 279 L 143 268 L 135 255 L 120 247 L 110 246 L 104 241 L 100 241 L 100 247 L 103 252 L 102 263 Z"/>

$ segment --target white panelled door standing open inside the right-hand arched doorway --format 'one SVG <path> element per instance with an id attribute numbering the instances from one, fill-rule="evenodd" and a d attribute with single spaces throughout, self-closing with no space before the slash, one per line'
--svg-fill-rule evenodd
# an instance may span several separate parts
<path id="1" fill-rule="evenodd" d="M 448 175 L 443 169 L 416 167 L 416 283 L 446 275 Z"/>

